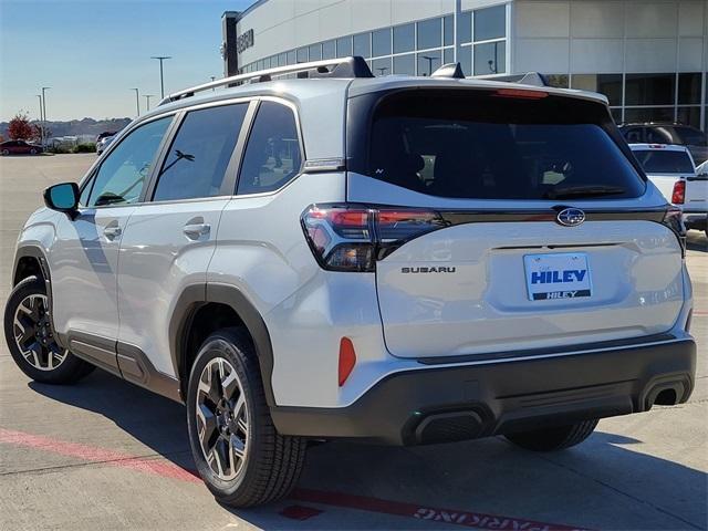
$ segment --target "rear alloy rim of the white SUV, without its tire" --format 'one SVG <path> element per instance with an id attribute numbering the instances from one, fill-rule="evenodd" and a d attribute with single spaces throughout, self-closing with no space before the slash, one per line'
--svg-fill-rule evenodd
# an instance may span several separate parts
<path id="1" fill-rule="evenodd" d="M 246 395 L 233 365 L 215 357 L 201 371 L 196 397 L 197 434 L 207 464 L 225 481 L 236 478 L 248 457 Z"/>

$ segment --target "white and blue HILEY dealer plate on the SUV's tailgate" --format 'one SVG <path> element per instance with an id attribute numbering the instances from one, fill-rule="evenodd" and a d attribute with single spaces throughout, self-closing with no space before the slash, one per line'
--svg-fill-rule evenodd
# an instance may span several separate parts
<path id="1" fill-rule="evenodd" d="M 527 254 L 523 267 L 531 301 L 591 296 L 590 264 L 584 252 Z"/>

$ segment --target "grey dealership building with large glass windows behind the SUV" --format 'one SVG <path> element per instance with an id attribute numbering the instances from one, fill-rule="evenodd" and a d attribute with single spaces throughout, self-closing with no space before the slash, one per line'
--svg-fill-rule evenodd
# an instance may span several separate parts
<path id="1" fill-rule="evenodd" d="M 260 0 L 222 18 L 225 74 L 362 55 L 375 75 L 540 72 L 615 119 L 708 129 L 706 0 Z"/>

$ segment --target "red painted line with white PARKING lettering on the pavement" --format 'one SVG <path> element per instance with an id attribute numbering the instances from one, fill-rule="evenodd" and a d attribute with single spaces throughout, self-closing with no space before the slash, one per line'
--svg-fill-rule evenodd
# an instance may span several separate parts
<path id="1" fill-rule="evenodd" d="M 0 442 L 35 448 L 51 451 L 66 457 L 74 457 L 85 461 L 101 462 L 107 466 L 138 470 L 154 473 L 165 478 L 179 479 L 192 483 L 201 483 L 201 479 L 190 470 L 186 470 L 171 462 L 159 461 L 155 458 L 146 459 L 133 457 L 113 450 L 96 448 L 93 446 L 65 440 L 56 440 L 41 435 L 32 435 L 24 431 L 0 428 Z M 365 496 L 345 494 L 341 492 L 326 492 L 311 489 L 295 489 L 291 498 L 298 501 L 334 506 L 345 509 L 356 509 L 367 512 L 377 512 L 397 517 L 427 520 L 430 522 L 451 523 L 473 529 L 502 530 L 502 531 L 572 531 L 581 530 L 572 525 L 563 525 L 546 522 L 537 522 L 522 518 L 509 518 L 498 514 L 483 514 L 470 511 L 440 509 L 417 503 L 382 500 Z M 312 516 L 315 516 L 316 509 Z M 309 518 L 311 518 L 309 516 Z"/>

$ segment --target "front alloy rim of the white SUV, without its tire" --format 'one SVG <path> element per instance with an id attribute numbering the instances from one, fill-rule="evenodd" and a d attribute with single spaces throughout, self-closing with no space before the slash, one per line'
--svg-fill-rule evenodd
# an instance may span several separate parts
<path id="1" fill-rule="evenodd" d="M 67 350 L 54 339 L 49 314 L 49 300 L 43 294 L 25 296 L 14 312 L 14 341 L 24 360 L 40 371 L 54 371 Z"/>

